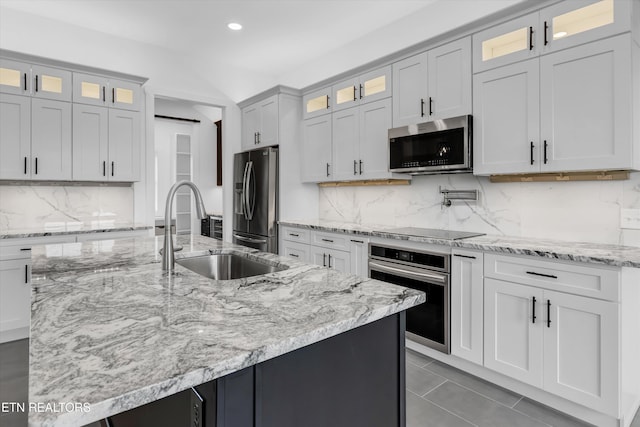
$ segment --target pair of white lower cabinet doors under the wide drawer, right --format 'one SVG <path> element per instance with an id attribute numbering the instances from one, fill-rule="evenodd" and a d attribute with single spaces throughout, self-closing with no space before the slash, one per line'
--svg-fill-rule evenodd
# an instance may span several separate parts
<path id="1" fill-rule="evenodd" d="M 487 368 L 618 416 L 617 302 L 485 278 L 484 304 Z"/>

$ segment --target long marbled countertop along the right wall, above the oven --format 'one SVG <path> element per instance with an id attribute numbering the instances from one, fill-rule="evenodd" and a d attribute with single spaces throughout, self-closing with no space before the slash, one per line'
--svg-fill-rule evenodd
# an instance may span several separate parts
<path id="1" fill-rule="evenodd" d="M 548 259 L 640 268 L 640 248 L 588 242 L 484 235 L 461 240 L 432 239 L 393 233 L 397 226 L 361 225 L 339 221 L 287 220 L 281 226 L 407 240 L 451 248 L 476 249 L 513 255 L 530 255 Z"/>

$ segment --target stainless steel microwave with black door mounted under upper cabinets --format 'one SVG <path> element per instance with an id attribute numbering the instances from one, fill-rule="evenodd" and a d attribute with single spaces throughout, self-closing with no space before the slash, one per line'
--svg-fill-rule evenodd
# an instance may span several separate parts
<path id="1" fill-rule="evenodd" d="M 412 175 L 473 170 L 471 116 L 389 129 L 389 170 Z"/>

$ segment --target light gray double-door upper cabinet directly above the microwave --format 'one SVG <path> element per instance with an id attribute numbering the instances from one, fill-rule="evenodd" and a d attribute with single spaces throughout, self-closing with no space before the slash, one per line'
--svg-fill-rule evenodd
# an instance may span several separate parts
<path id="1" fill-rule="evenodd" d="M 393 64 L 393 127 L 471 114 L 469 37 Z"/>

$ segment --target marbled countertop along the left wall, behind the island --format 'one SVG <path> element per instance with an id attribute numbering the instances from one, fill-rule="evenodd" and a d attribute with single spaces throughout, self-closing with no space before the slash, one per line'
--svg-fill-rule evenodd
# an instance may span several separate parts
<path id="1" fill-rule="evenodd" d="M 70 234 L 113 233 L 116 231 L 151 230 L 153 227 L 113 220 L 70 221 L 45 223 L 37 227 L 0 231 L 0 239 L 24 239 L 29 237 L 65 236 Z"/>

